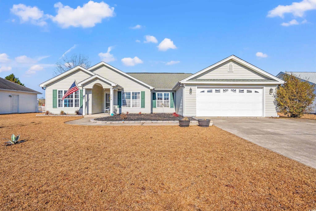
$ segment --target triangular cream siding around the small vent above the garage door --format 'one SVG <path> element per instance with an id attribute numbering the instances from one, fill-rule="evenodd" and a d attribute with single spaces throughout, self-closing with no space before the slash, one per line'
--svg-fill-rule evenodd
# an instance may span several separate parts
<path id="1" fill-rule="evenodd" d="M 234 71 L 228 71 L 228 65 L 234 65 Z M 241 65 L 233 60 L 228 60 L 192 79 L 267 79 L 265 76 Z"/>

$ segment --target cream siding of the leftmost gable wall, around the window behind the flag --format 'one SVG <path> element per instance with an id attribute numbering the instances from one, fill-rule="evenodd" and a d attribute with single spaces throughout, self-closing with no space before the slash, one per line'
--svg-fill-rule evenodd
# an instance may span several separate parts
<path id="1" fill-rule="evenodd" d="M 53 108 L 53 90 L 68 90 L 75 80 L 79 83 L 92 75 L 92 73 L 90 75 L 85 71 L 77 70 L 46 85 L 46 111 L 50 111 L 53 114 L 59 114 L 60 111 L 63 110 L 68 114 L 75 114 L 75 111 L 79 109 L 80 114 L 82 114 L 82 108 Z M 79 88 L 81 89 L 81 87 Z"/>

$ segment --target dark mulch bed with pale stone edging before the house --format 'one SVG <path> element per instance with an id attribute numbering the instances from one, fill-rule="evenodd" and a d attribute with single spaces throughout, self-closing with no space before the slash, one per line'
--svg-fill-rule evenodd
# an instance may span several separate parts
<path id="1" fill-rule="evenodd" d="M 157 114 L 127 114 L 127 118 L 124 119 L 124 121 L 176 121 L 179 118 L 182 118 L 182 116 L 175 117 L 172 114 L 166 114 L 166 113 L 157 113 Z M 121 115 L 114 115 L 114 116 L 106 116 L 97 118 L 95 120 L 98 121 L 122 121 Z"/>

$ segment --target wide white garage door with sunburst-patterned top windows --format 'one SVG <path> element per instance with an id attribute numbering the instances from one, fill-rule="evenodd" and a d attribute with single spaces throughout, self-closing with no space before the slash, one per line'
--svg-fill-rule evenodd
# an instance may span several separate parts
<path id="1" fill-rule="evenodd" d="M 197 88 L 197 116 L 262 116 L 262 88 Z"/>

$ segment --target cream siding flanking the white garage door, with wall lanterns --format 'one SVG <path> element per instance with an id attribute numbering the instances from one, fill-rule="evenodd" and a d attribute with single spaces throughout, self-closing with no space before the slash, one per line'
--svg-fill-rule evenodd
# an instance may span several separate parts
<path id="1" fill-rule="evenodd" d="M 184 115 L 185 116 L 196 116 L 196 86 L 195 85 L 185 85 L 184 88 Z M 216 86 L 224 86 L 223 84 L 212 84 L 213 87 Z M 273 89 L 273 92 L 275 92 L 276 85 L 251 85 L 251 84 L 234 84 L 234 87 L 264 87 L 264 116 L 276 116 L 276 107 L 274 105 L 274 96 L 273 94 L 269 94 L 270 88 Z M 190 95 L 189 89 L 192 88 L 192 94 Z"/>

